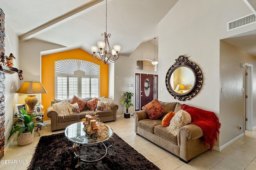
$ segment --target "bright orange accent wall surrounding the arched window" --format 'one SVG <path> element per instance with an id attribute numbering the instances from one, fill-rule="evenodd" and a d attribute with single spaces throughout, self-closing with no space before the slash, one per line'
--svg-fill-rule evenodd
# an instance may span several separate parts
<path id="1" fill-rule="evenodd" d="M 55 89 L 55 73 L 54 62 L 58 60 L 78 59 L 90 61 L 100 65 L 100 97 L 106 96 L 108 98 L 108 64 L 101 61 L 94 61 L 92 55 L 82 49 L 74 49 L 60 53 L 42 56 L 42 84 L 48 93 L 42 94 L 42 105 L 45 111 L 44 120 L 50 120 L 47 117 L 47 108 L 50 106 L 51 101 L 54 100 Z"/>

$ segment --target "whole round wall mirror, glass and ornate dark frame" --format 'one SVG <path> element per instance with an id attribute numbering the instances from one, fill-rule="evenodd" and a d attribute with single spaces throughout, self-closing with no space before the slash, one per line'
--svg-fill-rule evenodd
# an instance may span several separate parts
<path id="1" fill-rule="evenodd" d="M 202 72 L 187 57 L 180 56 L 175 61 L 166 74 L 166 88 L 175 99 L 189 100 L 202 86 Z"/>

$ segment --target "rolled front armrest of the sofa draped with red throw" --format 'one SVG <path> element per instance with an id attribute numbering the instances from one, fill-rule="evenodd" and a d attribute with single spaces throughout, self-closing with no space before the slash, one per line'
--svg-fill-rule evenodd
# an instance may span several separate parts
<path id="1" fill-rule="evenodd" d="M 186 126 L 183 126 L 178 131 L 178 146 L 180 147 L 180 143 L 182 140 L 191 141 L 202 136 L 203 131 L 199 126 L 194 124 L 188 124 Z"/>

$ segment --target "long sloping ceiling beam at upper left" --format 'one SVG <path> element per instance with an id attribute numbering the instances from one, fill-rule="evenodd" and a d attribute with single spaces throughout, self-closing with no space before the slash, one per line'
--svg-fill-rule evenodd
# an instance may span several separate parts
<path id="1" fill-rule="evenodd" d="M 49 29 L 52 29 L 53 27 L 56 27 L 57 25 L 60 25 L 61 23 L 64 23 L 68 20 L 71 20 L 72 18 L 75 18 L 85 12 L 85 10 L 88 10 L 88 8 L 91 8 L 92 6 L 96 7 L 95 5 L 99 4 L 104 0 L 92 0 L 88 2 L 87 4 L 84 4 L 83 6 L 80 6 L 67 14 L 64 14 L 58 18 L 55 18 L 47 23 L 44 23 L 43 25 L 40 25 L 39 27 L 36 27 L 22 35 L 19 36 L 20 41 L 26 41 L 28 39 L 31 39 L 35 37 L 36 35 L 39 35 Z"/>

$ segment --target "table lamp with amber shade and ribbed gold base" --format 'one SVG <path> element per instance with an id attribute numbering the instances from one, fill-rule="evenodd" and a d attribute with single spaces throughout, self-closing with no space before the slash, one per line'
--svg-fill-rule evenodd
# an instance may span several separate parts
<path id="1" fill-rule="evenodd" d="M 20 89 L 16 93 L 28 94 L 25 98 L 25 103 L 28 105 L 28 115 L 32 115 L 35 112 L 34 107 L 38 103 L 36 94 L 47 93 L 41 82 L 24 82 Z"/>

